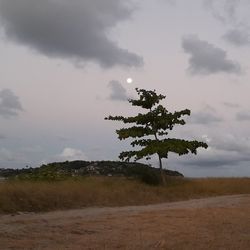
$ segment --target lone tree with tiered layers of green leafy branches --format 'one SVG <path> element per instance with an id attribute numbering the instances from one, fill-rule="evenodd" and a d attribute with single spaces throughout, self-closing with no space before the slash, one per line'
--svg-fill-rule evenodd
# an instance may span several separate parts
<path id="1" fill-rule="evenodd" d="M 124 116 L 109 116 L 105 120 L 122 121 L 125 124 L 134 124 L 132 127 L 126 127 L 116 130 L 118 138 L 125 140 L 133 138 L 131 145 L 140 147 L 138 150 L 121 152 L 119 158 L 129 161 L 134 158 L 135 161 L 146 158 L 150 159 L 151 155 L 157 154 L 159 158 L 159 168 L 162 182 L 165 183 L 162 159 L 168 158 L 170 152 L 178 155 L 188 153 L 197 154 L 199 147 L 207 148 L 208 145 L 204 142 L 186 141 L 182 139 L 169 138 L 169 132 L 175 125 L 185 125 L 186 122 L 182 116 L 190 115 L 189 109 L 169 112 L 159 102 L 166 96 L 157 94 L 151 90 L 136 88 L 139 99 L 129 99 L 132 106 L 139 106 L 146 109 L 144 114 L 139 113 L 133 117 Z"/>

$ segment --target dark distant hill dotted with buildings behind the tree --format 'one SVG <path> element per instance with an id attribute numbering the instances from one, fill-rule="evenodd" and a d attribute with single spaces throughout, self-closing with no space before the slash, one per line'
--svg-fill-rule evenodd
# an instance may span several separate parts
<path id="1" fill-rule="evenodd" d="M 21 179 L 61 179 L 78 176 L 124 176 L 144 178 L 158 174 L 158 169 L 137 162 L 120 161 L 66 161 L 42 165 L 38 168 L 0 169 L 0 177 Z M 167 176 L 183 175 L 164 170 Z"/>

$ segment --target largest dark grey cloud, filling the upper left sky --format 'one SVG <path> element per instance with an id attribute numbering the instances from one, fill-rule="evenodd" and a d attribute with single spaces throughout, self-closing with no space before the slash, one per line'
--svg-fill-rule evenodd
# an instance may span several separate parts
<path id="1" fill-rule="evenodd" d="M 51 58 L 141 66 L 140 56 L 109 37 L 134 9 L 122 0 L 0 0 L 0 23 L 9 39 Z"/>

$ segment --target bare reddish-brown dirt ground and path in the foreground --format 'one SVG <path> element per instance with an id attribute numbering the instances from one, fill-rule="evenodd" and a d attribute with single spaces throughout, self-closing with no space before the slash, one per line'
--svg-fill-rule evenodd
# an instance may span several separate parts
<path id="1" fill-rule="evenodd" d="M 0 249 L 250 249 L 250 195 L 2 215 Z"/>

